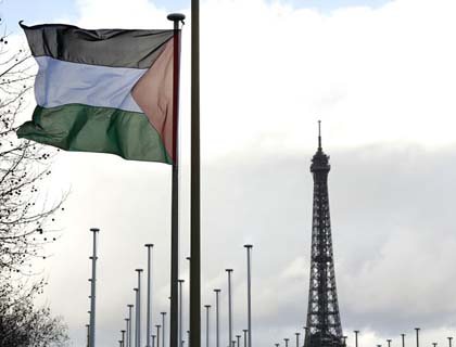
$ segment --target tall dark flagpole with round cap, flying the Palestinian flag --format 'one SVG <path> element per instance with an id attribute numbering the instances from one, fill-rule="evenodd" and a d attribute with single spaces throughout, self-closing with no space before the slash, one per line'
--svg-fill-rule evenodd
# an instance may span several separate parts
<path id="1" fill-rule="evenodd" d="M 172 179 L 172 260 L 170 260 L 170 309 L 169 309 L 169 347 L 178 347 L 178 280 L 179 280 L 179 22 L 185 20 L 180 13 L 167 16 L 174 22 L 174 57 L 173 57 L 173 179 Z M 164 329 L 164 327 L 163 327 Z M 163 340 L 165 332 L 163 331 Z"/>

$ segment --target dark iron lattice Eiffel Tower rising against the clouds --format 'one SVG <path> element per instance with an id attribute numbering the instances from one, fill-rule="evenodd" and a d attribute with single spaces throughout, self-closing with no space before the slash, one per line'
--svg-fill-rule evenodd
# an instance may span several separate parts
<path id="1" fill-rule="evenodd" d="M 328 174 L 330 169 L 329 156 L 321 149 L 320 121 L 318 121 L 318 150 L 311 165 L 311 172 L 314 176 L 314 208 L 305 347 L 345 345 L 335 288 L 329 216 Z"/>

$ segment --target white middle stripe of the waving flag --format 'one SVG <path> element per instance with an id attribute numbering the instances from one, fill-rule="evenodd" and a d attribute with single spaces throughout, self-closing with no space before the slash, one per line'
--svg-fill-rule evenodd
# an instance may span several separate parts
<path id="1" fill-rule="evenodd" d="M 85 104 L 142 112 L 130 91 L 148 69 L 69 63 L 50 56 L 36 61 L 35 97 L 42 107 Z"/>

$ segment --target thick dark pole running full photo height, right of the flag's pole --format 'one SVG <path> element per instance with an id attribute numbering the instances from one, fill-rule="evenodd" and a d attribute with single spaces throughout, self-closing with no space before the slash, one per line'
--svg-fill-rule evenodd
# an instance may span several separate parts
<path id="1" fill-rule="evenodd" d="M 190 347 L 201 347 L 200 0 L 191 0 Z"/>

